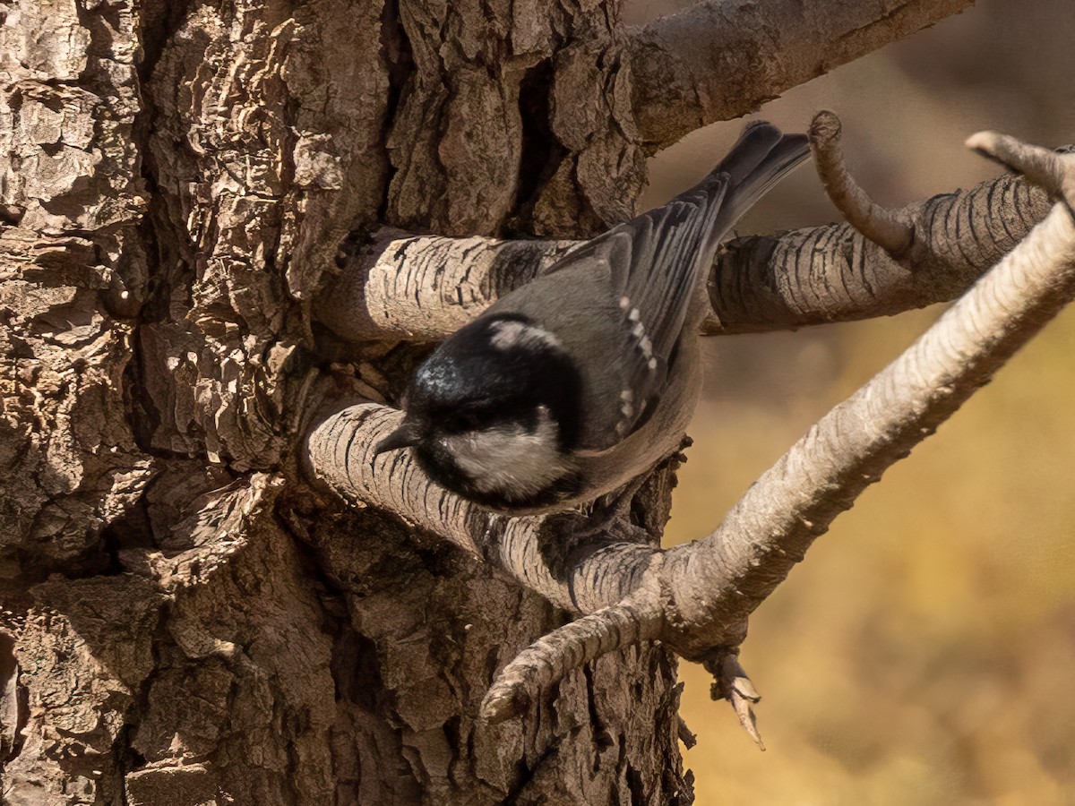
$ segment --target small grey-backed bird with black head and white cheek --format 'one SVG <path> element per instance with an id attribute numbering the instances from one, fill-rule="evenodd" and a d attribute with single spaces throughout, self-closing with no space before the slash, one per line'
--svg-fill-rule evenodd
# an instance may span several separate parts
<path id="1" fill-rule="evenodd" d="M 443 342 L 375 454 L 520 515 L 622 488 L 678 450 L 701 392 L 706 277 L 736 220 L 809 153 L 748 125 L 696 187 L 580 245 Z"/>

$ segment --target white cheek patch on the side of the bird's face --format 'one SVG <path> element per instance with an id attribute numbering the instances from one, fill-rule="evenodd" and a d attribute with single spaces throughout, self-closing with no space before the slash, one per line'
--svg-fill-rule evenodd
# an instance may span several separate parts
<path id="1" fill-rule="evenodd" d="M 456 465 L 484 493 L 507 498 L 534 495 L 565 475 L 571 466 L 560 454 L 559 429 L 545 406 L 538 409 L 533 433 L 520 423 L 440 437 Z"/>

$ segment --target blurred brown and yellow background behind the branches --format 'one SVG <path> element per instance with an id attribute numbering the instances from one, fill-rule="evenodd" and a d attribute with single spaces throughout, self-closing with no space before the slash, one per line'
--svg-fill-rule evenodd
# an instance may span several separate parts
<path id="1" fill-rule="evenodd" d="M 686 2 L 680 5 L 687 4 Z M 628 0 L 630 21 L 674 2 Z M 1075 142 L 1072 0 L 979 0 L 962 15 L 789 91 L 758 117 L 818 109 L 878 201 L 970 187 L 998 169 L 964 139 Z M 742 121 L 650 163 L 646 207 L 704 175 Z M 800 169 L 740 233 L 837 214 Z M 708 340 L 706 398 L 671 542 L 713 529 L 832 405 L 941 307 L 798 333 Z M 698 803 L 1075 804 L 1075 311 L 870 488 L 757 611 L 742 660 L 764 699 L 759 752 L 710 679 L 680 666 Z"/>

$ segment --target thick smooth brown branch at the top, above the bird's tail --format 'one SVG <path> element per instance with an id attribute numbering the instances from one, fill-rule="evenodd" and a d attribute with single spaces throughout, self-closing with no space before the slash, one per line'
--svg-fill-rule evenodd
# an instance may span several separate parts
<path id="1" fill-rule="evenodd" d="M 715 120 L 754 112 L 972 3 L 705 0 L 656 19 L 626 44 L 643 147 L 654 154 Z"/>

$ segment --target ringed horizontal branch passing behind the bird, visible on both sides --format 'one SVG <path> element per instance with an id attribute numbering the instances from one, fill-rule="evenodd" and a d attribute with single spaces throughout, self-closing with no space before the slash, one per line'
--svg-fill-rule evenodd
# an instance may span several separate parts
<path id="1" fill-rule="evenodd" d="M 710 275 L 710 335 L 898 314 L 962 293 L 1048 212 L 1047 196 L 1001 176 L 898 213 L 914 240 L 903 259 L 854 227 L 831 225 L 729 243 Z M 318 301 L 349 340 L 444 339 L 556 262 L 574 241 L 404 235 L 384 230 Z"/>

